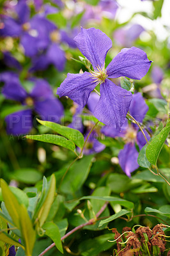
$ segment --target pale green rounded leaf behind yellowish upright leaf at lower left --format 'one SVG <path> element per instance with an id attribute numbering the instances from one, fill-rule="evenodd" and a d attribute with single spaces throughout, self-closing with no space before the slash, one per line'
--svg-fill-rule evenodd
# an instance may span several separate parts
<path id="1" fill-rule="evenodd" d="M 28 207 L 29 200 L 27 198 L 26 193 L 24 193 L 24 191 L 22 191 L 19 188 L 15 188 L 15 187 L 11 187 L 11 186 L 9 186 L 9 189 L 17 197 L 17 200 L 19 201 L 20 204 L 24 204 L 24 205 L 26 205 L 26 207 Z M 2 194 L 1 188 L 0 188 L 0 200 L 3 201 L 3 194 Z"/>

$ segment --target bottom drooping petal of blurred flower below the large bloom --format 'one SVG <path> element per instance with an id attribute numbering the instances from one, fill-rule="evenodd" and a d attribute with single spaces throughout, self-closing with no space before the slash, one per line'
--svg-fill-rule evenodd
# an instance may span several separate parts
<path id="1" fill-rule="evenodd" d="M 125 147 L 120 150 L 118 156 L 120 166 L 128 177 L 131 176 L 131 172 L 134 172 L 139 167 L 139 164 L 137 163 L 138 154 L 135 145 L 132 143 L 126 144 Z"/>

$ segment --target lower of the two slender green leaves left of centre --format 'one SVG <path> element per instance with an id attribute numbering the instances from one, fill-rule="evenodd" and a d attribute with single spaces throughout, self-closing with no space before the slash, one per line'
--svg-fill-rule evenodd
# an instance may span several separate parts
<path id="1" fill-rule="evenodd" d="M 72 141 L 66 140 L 66 138 L 55 134 L 26 135 L 26 138 L 30 140 L 38 140 L 47 143 L 52 143 L 64 148 L 68 148 L 73 152 L 75 150 L 75 145 Z"/>

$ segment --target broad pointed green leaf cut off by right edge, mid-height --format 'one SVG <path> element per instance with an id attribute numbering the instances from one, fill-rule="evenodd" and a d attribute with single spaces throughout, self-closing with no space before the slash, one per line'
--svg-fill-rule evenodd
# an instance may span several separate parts
<path id="1" fill-rule="evenodd" d="M 146 148 L 146 157 L 151 164 L 157 164 L 158 155 L 164 145 L 164 142 L 166 141 L 169 132 L 170 118 L 167 120 L 166 127 L 164 127 L 164 129 L 157 136 L 155 136 L 155 138 L 153 138 L 153 140 Z"/>

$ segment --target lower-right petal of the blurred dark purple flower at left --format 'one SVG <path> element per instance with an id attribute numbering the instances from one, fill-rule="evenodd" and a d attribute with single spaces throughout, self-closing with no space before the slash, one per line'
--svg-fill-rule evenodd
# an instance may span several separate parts
<path id="1" fill-rule="evenodd" d="M 45 99 L 35 102 L 35 111 L 42 120 L 59 123 L 64 114 L 63 105 L 58 99 Z"/>

